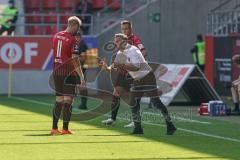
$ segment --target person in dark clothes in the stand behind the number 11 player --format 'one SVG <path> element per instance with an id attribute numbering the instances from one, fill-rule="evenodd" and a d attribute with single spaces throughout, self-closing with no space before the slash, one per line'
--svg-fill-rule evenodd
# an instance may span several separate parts
<path id="1" fill-rule="evenodd" d="M 84 14 L 92 14 L 92 4 L 87 0 L 81 0 L 76 7 L 76 14 L 83 14 L 79 16 L 83 22 L 81 30 L 83 31 L 84 35 L 89 34 L 92 18 L 91 16 Z"/>

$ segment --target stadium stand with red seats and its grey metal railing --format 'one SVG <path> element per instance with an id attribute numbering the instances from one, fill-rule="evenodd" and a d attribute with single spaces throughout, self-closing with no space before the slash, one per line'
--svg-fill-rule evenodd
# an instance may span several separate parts
<path id="1" fill-rule="evenodd" d="M 83 21 L 83 28 L 88 31 L 83 34 L 98 34 L 113 26 L 125 15 L 143 6 L 148 0 L 87 0 L 92 12 L 77 13 L 76 8 L 84 0 L 20 0 L 17 7 L 20 10 L 16 23 L 16 35 L 52 35 L 55 31 L 66 27 L 67 18 L 77 15 Z M 7 1 L 6 1 L 7 3 Z M 80 7 L 81 8 L 81 7 Z M 42 28 L 37 30 L 35 26 Z M 52 25 L 56 27 L 50 27 Z"/>

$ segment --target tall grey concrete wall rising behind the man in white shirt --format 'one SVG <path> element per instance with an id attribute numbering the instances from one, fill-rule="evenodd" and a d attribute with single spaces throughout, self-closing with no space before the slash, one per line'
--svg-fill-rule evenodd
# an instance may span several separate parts
<path id="1" fill-rule="evenodd" d="M 148 60 L 170 64 L 191 64 L 190 49 L 198 33 L 206 33 L 207 14 L 220 3 L 219 0 L 157 0 L 146 8 L 135 11 L 124 19 L 133 23 L 136 34 L 148 51 Z M 160 13 L 160 22 L 153 21 L 151 15 Z M 119 21 L 120 22 L 120 21 Z M 100 56 L 106 54 L 103 46 L 120 32 L 119 22 L 98 36 Z M 100 77 L 103 89 L 110 90 L 107 75 Z"/>

